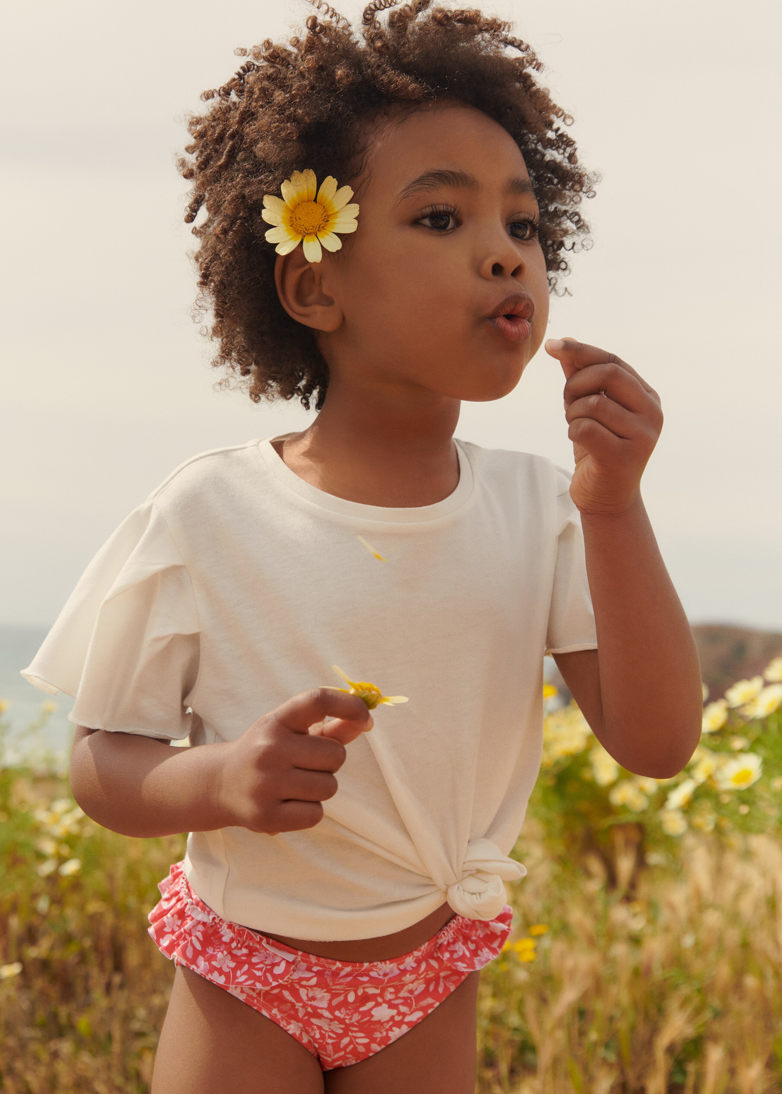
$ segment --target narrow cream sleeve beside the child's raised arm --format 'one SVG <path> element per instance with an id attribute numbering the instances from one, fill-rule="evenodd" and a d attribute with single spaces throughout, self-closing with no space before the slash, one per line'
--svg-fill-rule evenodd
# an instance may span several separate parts
<path id="1" fill-rule="evenodd" d="M 597 649 L 595 615 L 586 578 L 581 516 L 570 497 L 568 472 L 557 475 L 557 565 L 551 590 L 546 653 Z"/>

